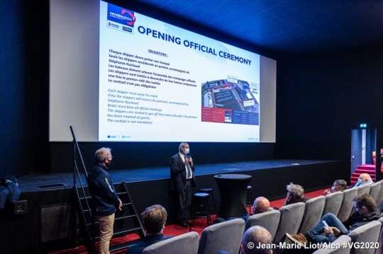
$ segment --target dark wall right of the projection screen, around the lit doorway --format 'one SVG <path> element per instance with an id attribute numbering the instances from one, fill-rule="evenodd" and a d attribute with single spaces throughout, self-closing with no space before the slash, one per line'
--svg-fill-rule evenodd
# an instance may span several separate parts
<path id="1" fill-rule="evenodd" d="M 351 129 L 361 122 L 377 128 L 382 146 L 382 73 L 382 49 L 279 58 L 275 156 L 340 160 L 349 170 Z"/>

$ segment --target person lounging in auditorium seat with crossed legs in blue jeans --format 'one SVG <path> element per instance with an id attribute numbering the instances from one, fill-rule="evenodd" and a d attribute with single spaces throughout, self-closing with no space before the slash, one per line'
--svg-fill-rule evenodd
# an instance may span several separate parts
<path id="1" fill-rule="evenodd" d="M 345 235 L 353 231 L 358 226 L 367 224 L 382 217 L 382 212 L 377 209 L 377 204 L 371 195 L 363 193 L 357 195 L 353 200 L 354 214 L 343 224 L 334 214 L 325 214 L 321 220 L 308 232 L 286 236 L 301 246 L 312 243 L 332 243 L 340 235 Z M 324 226 L 322 221 L 326 221 L 328 227 Z M 326 236 L 323 236 L 326 233 Z"/>

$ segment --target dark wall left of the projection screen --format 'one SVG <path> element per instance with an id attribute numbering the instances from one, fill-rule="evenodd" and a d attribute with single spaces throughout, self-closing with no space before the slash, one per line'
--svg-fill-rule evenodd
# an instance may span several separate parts
<path id="1" fill-rule="evenodd" d="M 1 4 L 1 175 L 25 175 L 48 158 L 48 13 L 48 0 Z"/>

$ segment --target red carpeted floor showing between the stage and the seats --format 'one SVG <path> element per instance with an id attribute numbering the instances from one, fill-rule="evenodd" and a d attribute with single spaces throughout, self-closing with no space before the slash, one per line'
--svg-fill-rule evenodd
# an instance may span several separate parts
<path id="1" fill-rule="evenodd" d="M 317 190 L 314 192 L 306 193 L 305 196 L 306 197 L 318 197 L 320 195 L 323 195 L 323 192 L 324 192 L 324 190 Z M 282 207 L 283 204 L 284 204 L 284 199 L 274 200 L 274 201 L 270 202 L 271 207 L 276 207 L 276 208 Z M 211 217 L 211 221 L 213 221 L 214 219 L 216 219 L 216 215 L 213 215 Z M 192 231 L 196 231 L 197 233 L 199 233 L 199 236 L 201 236 L 201 233 L 206 228 L 206 226 L 208 226 L 206 223 L 206 219 L 196 219 L 196 225 L 192 228 Z M 182 228 L 182 226 L 179 226 L 177 224 L 167 225 L 167 226 L 165 226 L 165 229 L 164 229 L 164 235 L 165 236 L 179 236 L 179 235 L 182 235 L 183 233 L 187 233 L 187 232 L 189 232 L 189 228 L 185 229 L 185 228 Z M 122 236 L 122 237 L 113 238 L 113 239 L 111 239 L 111 245 L 118 244 L 118 243 L 125 243 L 127 241 L 132 241 L 132 240 L 135 240 L 138 238 L 139 238 L 139 236 L 136 234 L 130 234 L 130 235 Z M 67 249 L 67 250 L 59 250 L 59 251 L 56 251 L 56 252 L 53 252 L 50 254 L 59 254 L 59 253 L 60 254 L 62 254 L 62 253 L 83 254 L 83 253 L 87 253 L 87 250 L 84 246 L 79 246 L 77 248 L 72 248 L 72 249 Z"/>

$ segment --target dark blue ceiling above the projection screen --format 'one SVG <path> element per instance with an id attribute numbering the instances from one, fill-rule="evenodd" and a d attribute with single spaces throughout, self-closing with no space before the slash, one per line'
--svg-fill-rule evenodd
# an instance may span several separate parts
<path id="1" fill-rule="evenodd" d="M 383 0 L 140 0 L 279 53 L 383 45 Z"/>

